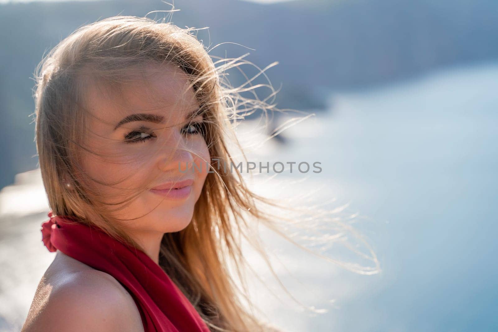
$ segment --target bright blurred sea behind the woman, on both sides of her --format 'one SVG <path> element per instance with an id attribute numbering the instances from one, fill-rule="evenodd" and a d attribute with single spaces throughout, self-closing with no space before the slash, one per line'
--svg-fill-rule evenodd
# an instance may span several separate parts
<path id="1" fill-rule="evenodd" d="M 255 287 L 268 319 L 292 332 L 497 331 L 497 91 L 498 63 L 488 63 L 334 93 L 326 114 L 283 132 L 288 144 L 249 147 L 250 161 L 321 162 L 319 174 L 256 176 L 251 185 L 280 198 L 318 189 L 311 201 L 346 204 L 382 270 L 355 274 L 263 232 L 288 290 L 328 311 L 312 317 Z M 246 143 L 264 138 L 253 124 L 239 129 Z M 5 187 L 0 209 L 0 330 L 18 331 L 54 256 L 41 242 L 48 208 L 39 172 Z"/>

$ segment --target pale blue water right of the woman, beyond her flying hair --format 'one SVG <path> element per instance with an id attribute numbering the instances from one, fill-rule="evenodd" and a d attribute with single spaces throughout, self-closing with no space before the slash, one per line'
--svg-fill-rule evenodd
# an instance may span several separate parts
<path id="1" fill-rule="evenodd" d="M 323 172 L 309 181 L 341 188 L 338 197 L 369 218 L 382 272 L 323 281 L 317 271 L 305 282 L 322 282 L 333 295 L 345 279 L 353 291 L 340 309 L 304 327 L 290 315 L 281 324 L 289 331 L 498 331 L 498 64 L 336 93 L 331 101 L 330 113 L 317 118 L 319 134 L 294 139 L 278 158 L 322 161 Z"/>

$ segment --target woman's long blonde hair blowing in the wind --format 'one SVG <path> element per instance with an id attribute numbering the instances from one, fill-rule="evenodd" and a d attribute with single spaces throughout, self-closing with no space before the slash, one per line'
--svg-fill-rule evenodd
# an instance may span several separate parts
<path id="1" fill-rule="evenodd" d="M 95 224 L 140 248 L 112 214 L 140 191 L 135 189 L 119 204 L 109 204 L 92 183 L 115 184 L 92 179 L 81 167 L 80 152 L 93 153 L 85 146 L 88 116 L 84 111 L 85 90 L 92 80 L 116 88 L 146 64 L 180 67 L 203 109 L 210 155 L 227 164 L 232 157 L 225 140 L 232 121 L 241 117 L 240 107 L 244 106 L 245 114 L 273 107 L 266 100 L 242 99 L 244 89 L 224 87 L 222 72 L 237 67 L 238 59 L 222 59 L 217 67 L 192 30 L 149 18 L 116 16 L 77 29 L 44 57 L 35 73 L 35 135 L 43 183 L 55 215 Z M 259 203 L 279 205 L 251 192 L 237 168 L 236 172 L 212 169 L 215 172 L 207 175 L 190 224 L 163 235 L 159 265 L 212 331 L 264 331 L 247 294 L 227 267 L 235 264 L 237 276 L 243 280 L 246 261 L 241 236 L 259 248 L 269 264 L 251 232 L 250 220 L 278 231 L 275 215 L 263 212 Z M 70 181 L 74 190 L 65 188 L 61 179 Z"/>

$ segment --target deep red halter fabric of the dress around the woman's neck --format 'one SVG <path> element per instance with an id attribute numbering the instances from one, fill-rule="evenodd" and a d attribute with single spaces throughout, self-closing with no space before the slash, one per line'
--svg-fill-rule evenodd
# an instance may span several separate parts
<path id="1" fill-rule="evenodd" d="M 48 213 L 42 241 L 118 280 L 138 307 L 145 332 L 209 332 L 185 295 L 144 252 L 125 245 L 96 226 Z"/>

